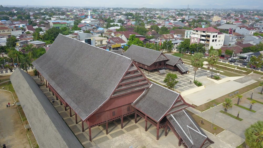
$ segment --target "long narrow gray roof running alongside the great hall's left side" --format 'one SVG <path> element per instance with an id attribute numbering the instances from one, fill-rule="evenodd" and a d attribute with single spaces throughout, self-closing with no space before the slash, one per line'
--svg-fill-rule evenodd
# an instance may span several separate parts
<path id="1" fill-rule="evenodd" d="M 29 74 L 17 68 L 10 80 L 39 147 L 83 147 Z"/>

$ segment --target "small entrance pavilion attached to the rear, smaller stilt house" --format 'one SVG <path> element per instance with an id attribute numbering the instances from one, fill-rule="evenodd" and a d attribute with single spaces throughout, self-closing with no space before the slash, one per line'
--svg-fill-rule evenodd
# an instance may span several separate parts
<path id="1" fill-rule="evenodd" d="M 166 62 L 166 68 L 169 70 L 177 70 L 180 74 L 186 74 L 188 73 L 188 69 L 183 65 L 183 61 L 181 58 L 170 55 L 170 54 L 164 54 L 169 61 Z"/>

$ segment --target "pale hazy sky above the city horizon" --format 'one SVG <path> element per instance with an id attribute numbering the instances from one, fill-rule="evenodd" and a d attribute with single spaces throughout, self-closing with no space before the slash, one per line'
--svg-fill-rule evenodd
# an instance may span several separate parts
<path id="1" fill-rule="evenodd" d="M 186 3 L 187 2 L 187 3 Z M 125 7 L 125 8 L 246 8 L 246 9 L 263 9 L 262 0 L 239 0 L 239 1 L 208 1 L 208 0 L 100 0 L 100 1 L 73 1 L 73 0 L 1 0 L 1 5 L 21 5 L 21 6 L 74 6 L 74 7 Z"/>

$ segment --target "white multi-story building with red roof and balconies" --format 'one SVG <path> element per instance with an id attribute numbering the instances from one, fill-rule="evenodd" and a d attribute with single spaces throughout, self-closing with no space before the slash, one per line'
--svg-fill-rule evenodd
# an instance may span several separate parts
<path id="1" fill-rule="evenodd" d="M 213 27 L 195 28 L 191 34 L 190 44 L 201 43 L 204 44 L 206 52 L 213 46 L 214 49 L 219 49 L 224 44 L 224 34 L 219 33 Z"/>

